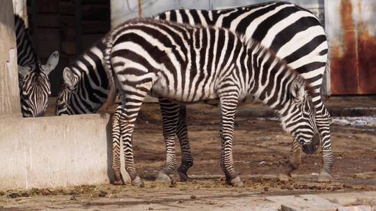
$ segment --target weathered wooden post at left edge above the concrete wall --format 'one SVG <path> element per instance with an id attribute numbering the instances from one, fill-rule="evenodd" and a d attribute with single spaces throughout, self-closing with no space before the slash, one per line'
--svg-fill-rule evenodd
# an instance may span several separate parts
<path id="1" fill-rule="evenodd" d="M 21 117 L 12 1 L 1 1 L 0 40 L 0 117 Z"/>

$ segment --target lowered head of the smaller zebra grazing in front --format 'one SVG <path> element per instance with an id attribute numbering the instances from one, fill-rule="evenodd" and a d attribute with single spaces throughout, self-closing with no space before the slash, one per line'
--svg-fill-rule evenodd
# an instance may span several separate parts
<path id="1" fill-rule="evenodd" d="M 314 153 L 320 146 L 320 133 L 311 98 L 313 92 L 299 76 L 290 84 L 290 91 L 290 103 L 285 103 L 285 108 L 280 112 L 282 126 L 295 137 L 304 153 Z"/>

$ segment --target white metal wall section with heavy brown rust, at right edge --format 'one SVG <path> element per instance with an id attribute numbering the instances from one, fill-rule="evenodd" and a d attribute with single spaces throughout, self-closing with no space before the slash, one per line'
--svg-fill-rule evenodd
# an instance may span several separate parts
<path id="1" fill-rule="evenodd" d="M 376 94 L 376 1 L 327 0 L 331 94 Z"/>

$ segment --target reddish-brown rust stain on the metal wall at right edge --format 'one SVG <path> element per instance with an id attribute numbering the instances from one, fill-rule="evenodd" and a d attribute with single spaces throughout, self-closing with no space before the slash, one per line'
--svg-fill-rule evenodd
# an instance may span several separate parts
<path id="1" fill-rule="evenodd" d="M 364 6 L 376 4 L 368 3 Z M 343 43 L 331 49 L 331 92 L 333 94 L 376 94 L 376 37 L 362 19 L 354 20 L 353 10 L 361 14 L 361 1 L 352 8 L 350 0 L 340 1 Z"/>

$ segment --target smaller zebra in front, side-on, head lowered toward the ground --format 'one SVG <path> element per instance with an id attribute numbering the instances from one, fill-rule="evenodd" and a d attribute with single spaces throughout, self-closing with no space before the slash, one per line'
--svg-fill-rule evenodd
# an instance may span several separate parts
<path id="1" fill-rule="evenodd" d="M 237 105 L 249 96 L 280 115 L 284 130 L 295 137 L 304 152 L 317 149 L 320 135 L 311 99 L 313 89 L 272 51 L 256 41 L 247 42 L 228 29 L 155 19 L 133 19 L 104 38 L 104 69 L 119 92 L 125 168 L 133 185 L 142 182 L 134 167 L 132 132 L 149 91 L 179 104 L 219 99 L 221 167 L 230 185 L 242 185 L 233 166 L 232 142 Z M 88 52 L 97 50 L 94 46 Z M 78 81 L 73 71 L 66 67 L 63 76 L 68 90 L 74 89 Z M 170 121 L 176 124 L 164 128 L 165 137 L 175 136 L 178 115 Z"/>

